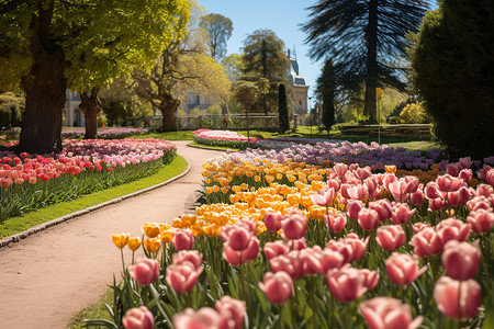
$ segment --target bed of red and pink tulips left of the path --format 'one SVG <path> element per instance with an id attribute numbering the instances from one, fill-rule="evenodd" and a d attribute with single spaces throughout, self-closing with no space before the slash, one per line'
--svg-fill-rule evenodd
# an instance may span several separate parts
<path id="1" fill-rule="evenodd" d="M 54 157 L 0 151 L 0 223 L 48 204 L 131 182 L 176 157 L 158 139 L 67 139 Z"/>

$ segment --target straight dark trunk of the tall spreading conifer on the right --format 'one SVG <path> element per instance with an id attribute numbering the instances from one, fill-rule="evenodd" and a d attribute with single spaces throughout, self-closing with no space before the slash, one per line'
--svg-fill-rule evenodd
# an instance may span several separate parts
<path id="1" fill-rule="evenodd" d="M 378 0 L 369 1 L 369 24 L 366 31 L 367 39 L 367 76 L 366 99 L 363 114 L 369 116 L 369 122 L 375 123 L 375 88 L 378 88 Z"/>

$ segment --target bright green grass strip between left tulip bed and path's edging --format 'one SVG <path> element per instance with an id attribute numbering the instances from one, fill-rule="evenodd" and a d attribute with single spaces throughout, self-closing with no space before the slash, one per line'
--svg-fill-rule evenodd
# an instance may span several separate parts
<path id="1" fill-rule="evenodd" d="M 22 217 L 9 218 L 0 224 L 0 238 L 24 231 L 36 225 L 85 209 L 102 202 L 159 184 L 183 172 L 187 166 L 186 159 L 178 156 L 169 164 L 164 166 L 158 172 L 145 179 L 83 195 L 74 201 L 54 204 Z"/>

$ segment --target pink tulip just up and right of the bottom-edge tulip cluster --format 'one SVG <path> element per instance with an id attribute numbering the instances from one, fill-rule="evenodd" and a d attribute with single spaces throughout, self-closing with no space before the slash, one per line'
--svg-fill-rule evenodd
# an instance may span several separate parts
<path id="1" fill-rule="evenodd" d="M 293 295 L 293 280 L 283 271 L 267 272 L 263 282 L 259 282 L 259 288 L 271 303 L 284 303 Z"/>

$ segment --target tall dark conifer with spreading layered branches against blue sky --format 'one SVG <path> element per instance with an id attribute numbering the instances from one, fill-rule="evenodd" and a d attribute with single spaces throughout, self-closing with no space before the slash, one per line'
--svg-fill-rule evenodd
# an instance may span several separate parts
<path id="1" fill-rule="evenodd" d="M 375 122 L 375 89 L 404 83 L 405 35 L 417 31 L 429 8 L 426 0 L 319 0 L 302 26 L 310 56 L 333 58 L 337 83 L 345 90 L 364 86 L 364 114 Z"/>

